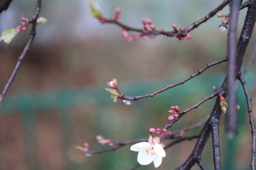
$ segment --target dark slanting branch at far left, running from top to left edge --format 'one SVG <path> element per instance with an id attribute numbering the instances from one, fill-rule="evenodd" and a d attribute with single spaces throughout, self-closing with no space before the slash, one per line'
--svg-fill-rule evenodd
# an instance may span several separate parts
<path id="1" fill-rule="evenodd" d="M 24 59 L 24 57 L 26 56 L 26 53 L 28 52 L 28 50 L 29 50 L 29 48 L 30 48 L 30 46 L 33 42 L 33 39 L 35 38 L 35 35 L 36 35 L 36 20 L 38 18 L 40 10 L 41 10 L 41 0 L 38 0 L 37 3 L 36 3 L 35 12 L 34 12 L 33 16 L 30 19 L 32 27 L 31 27 L 28 42 L 27 42 L 26 46 L 24 47 L 22 53 L 20 54 L 20 56 L 18 58 L 18 61 L 17 61 L 17 64 L 14 67 L 13 72 L 12 72 L 9 80 L 7 81 L 6 85 L 4 86 L 3 91 L 0 94 L 0 102 L 3 100 L 4 96 L 6 95 L 6 92 L 10 88 L 10 85 L 12 84 L 12 81 L 14 80 L 14 78 L 17 74 L 17 71 L 20 67 L 20 64 L 21 64 L 22 60 Z"/>

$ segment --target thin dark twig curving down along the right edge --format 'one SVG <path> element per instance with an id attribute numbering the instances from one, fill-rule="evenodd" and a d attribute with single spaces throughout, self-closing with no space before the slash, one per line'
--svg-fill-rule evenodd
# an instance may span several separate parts
<path id="1" fill-rule="evenodd" d="M 243 75 L 240 73 L 238 76 L 239 81 L 241 82 L 243 89 L 244 89 L 244 94 L 246 96 L 246 101 L 247 101 L 247 107 L 248 107 L 248 113 L 249 113 L 249 118 L 250 118 L 250 124 L 252 128 L 252 161 L 250 166 L 252 169 L 255 169 L 255 140 L 256 140 L 256 129 L 254 125 L 254 120 L 253 120 L 253 114 L 252 114 L 252 99 L 250 97 L 250 94 L 248 92 L 248 89 L 246 87 L 246 82 L 244 81 Z"/>

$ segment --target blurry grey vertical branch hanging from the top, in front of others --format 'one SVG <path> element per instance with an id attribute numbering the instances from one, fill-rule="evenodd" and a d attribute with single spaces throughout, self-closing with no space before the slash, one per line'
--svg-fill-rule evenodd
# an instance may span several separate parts
<path id="1" fill-rule="evenodd" d="M 230 29 L 228 31 L 228 113 L 227 113 L 227 132 L 228 137 L 233 138 L 237 132 L 236 115 L 236 34 L 237 20 L 239 13 L 240 0 L 230 1 Z"/>

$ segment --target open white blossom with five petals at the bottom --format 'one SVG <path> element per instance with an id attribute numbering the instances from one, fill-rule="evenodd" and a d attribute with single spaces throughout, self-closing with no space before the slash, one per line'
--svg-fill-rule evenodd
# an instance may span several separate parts
<path id="1" fill-rule="evenodd" d="M 158 137 L 152 139 L 152 136 L 150 136 L 148 142 L 136 143 L 131 146 L 132 151 L 139 152 L 137 159 L 139 164 L 148 165 L 153 161 L 155 167 L 161 165 L 166 153 L 159 143 L 160 139 Z"/>

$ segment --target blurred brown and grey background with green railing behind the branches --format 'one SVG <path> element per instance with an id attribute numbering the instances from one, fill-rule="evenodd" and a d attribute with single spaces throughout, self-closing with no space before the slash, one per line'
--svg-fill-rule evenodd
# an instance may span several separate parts
<path id="1" fill-rule="evenodd" d="M 202 18 L 222 1 L 103 1 L 102 13 L 112 17 L 120 6 L 120 20 L 142 27 L 141 18 L 152 18 L 157 29 L 172 30 L 171 25 L 186 27 Z M 13 1 L 0 15 L 0 32 L 20 25 L 21 17 L 31 17 L 36 1 Z M 228 13 L 228 8 L 223 10 Z M 153 98 L 142 99 L 127 106 L 113 103 L 104 89 L 117 78 L 120 90 L 127 96 L 140 96 L 176 83 L 213 62 L 225 57 L 227 31 L 220 31 L 221 19 L 191 31 L 192 39 L 180 41 L 157 36 L 127 42 L 119 27 L 100 24 L 90 17 L 84 0 L 42 1 L 40 16 L 48 22 L 38 25 L 28 55 L 0 108 L 0 169 L 128 169 L 137 163 L 137 153 L 124 146 L 116 152 L 85 157 L 75 146 L 90 143 L 93 150 L 108 146 L 97 143 L 98 134 L 113 141 L 147 138 L 150 127 L 163 127 L 168 110 L 178 105 L 189 108 L 202 97 L 220 87 L 226 64 L 220 64 Z M 239 32 L 245 11 L 241 11 Z M 29 27 L 30 28 L 30 27 Z M 0 87 L 3 89 L 12 73 L 29 31 L 20 32 L 10 45 L 0 42 Z M 244 58 L 250 56 L 255 34 Z M 255 113 L 255 64 L 246 75 L 246 82 Z M 211 113 L 215 99 L 189 112 L 171 131 L 195 124 Z M 250 169 L 251 129 L 243 90 L 238 89 L 239 131 L 228 140 L 225 115 L 221 117 L 221 163 L 223 169 Z M 202 127 L 185 135 L 198 133 Z M 175 169 L 188 158 L 196 140 L 185 141 L 166 150 L 158 169 Z M 170 141 L 163 141 L 164 144 Z M 212 164 L 211 139 L 205 146 L 203 162 Z M 154 169 L 154 165 L 139 169 Z M 197 166 L 193 169 L 198 169 Z"/>

